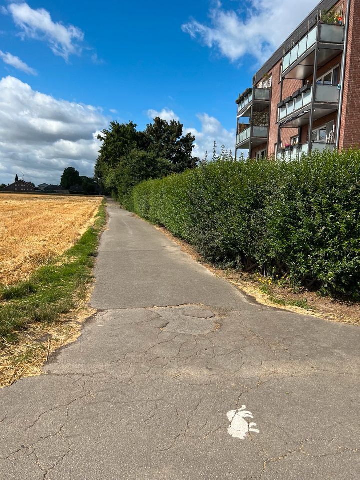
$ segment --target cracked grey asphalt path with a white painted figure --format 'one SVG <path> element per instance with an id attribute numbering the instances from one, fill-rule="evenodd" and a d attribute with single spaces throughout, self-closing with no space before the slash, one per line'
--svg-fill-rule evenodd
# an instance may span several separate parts
<path id="1" fill-rule="evenodd" d="M 78 341 L 0 390 L 0 478 L 360 478 L 360 328 L 268 308 L 116 204 Z"/>

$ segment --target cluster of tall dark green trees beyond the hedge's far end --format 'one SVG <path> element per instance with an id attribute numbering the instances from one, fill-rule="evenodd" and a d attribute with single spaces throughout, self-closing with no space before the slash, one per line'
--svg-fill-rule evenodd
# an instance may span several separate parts
<path id="1" fill-rule="evenodd" d="M 102 145 L 95 176 L 120 201 L 143 180 L 181 173 L 198 161 L 192 156 L 195 137 L 191 133 L 183 136 L 180 122 L 156 117 L 144 131 L 136 126 L 132 121 L 112 121 L 97 137 Z"/>

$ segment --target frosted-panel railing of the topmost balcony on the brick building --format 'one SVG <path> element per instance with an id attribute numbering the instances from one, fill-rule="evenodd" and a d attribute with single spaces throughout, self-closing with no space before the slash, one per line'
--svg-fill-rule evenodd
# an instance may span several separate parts
<path id="1" fill-rule="evenodd" d="M 320 29 L 319 41 L 323 43 L 343 43 L 344 25 L 327 25 L 319 23 L 306 36 L 304 36 L 290 51 L 283 57 L 282 71 L 287 70 L 300 56 L 302 56 L 312 45 L 316 43 L 317 29 Z"/>

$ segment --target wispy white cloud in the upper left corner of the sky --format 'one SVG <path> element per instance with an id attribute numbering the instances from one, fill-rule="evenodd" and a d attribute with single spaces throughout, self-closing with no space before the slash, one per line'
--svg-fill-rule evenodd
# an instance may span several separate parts
<path id="1" fill-rule="evenodd" d="M 27 3 L 10 3 L 8 11 L 24 36 L 46 40 L 55 55 L 67 61 L 69 55 L 81 53 L 84 34 L 76 26 L 54 22 L 47 10 L 33 10 Z"/>

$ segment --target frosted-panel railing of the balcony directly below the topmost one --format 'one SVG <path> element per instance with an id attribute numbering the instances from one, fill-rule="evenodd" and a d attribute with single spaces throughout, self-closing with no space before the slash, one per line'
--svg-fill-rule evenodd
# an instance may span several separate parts
<path id="1" fill-rule="evenodd" d="M 297 96 L 292 97 L 291 100 L 286 102 L 279 108 L 279 120 L 293 115 L 298 110 L 302 110 L 311 104 L 312 100 L 312 89 L 311 86 L 309 89 L 305 89 L 301 93 L 301 89 Z M 315 103 L 338 103 L 339 101 L 339 90 L 337 86 L 334 85 L 316 85 L 315 86 Z"/>

